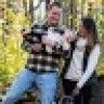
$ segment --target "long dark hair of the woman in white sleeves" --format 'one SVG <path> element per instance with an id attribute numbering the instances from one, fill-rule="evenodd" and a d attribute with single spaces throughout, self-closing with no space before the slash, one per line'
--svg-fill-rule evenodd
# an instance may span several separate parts
<path id="1" fill-rule="evenodd" d="M 98 43 L 99 42 L 98 29 L 96 29 L 94 20 L 91 17 L 83 17 L 82 25 L 88 30 L 88 32 L 91 32 L 92 38 L 93 38 L 93 43 L 94 44 Z"/>

